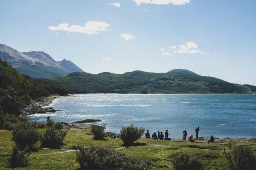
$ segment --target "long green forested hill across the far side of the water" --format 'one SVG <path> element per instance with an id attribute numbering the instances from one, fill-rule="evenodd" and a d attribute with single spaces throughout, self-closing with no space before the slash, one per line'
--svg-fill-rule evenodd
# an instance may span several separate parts
<path id="1" fill-rule="evenodd" d="M 232 84 L 183 69 L 167 73 L 133 71 L 96 75 L 74 72 L 53 81 L 70 93 L 256 93 L 255 86 Z"/>

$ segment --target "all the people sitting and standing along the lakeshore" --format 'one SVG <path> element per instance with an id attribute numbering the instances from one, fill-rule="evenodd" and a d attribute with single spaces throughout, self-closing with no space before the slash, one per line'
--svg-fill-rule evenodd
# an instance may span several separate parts
<path id="1" fill-rule="evenodd" d="M 200 128 L 199 128 L 199 127 L 196 127 L 196 129 L 195 129 L 195 132 L 196 132 L 196 139 L 198 139 L 198 133 L 199 133 L 199 131 L 200 131 Z M 187 137 L 187 131 L 186 131 L 186 129 L 185 129 L 184 131 L 182 131 L 182 133 L 183 133 L 183 141 L 186 141 L 186 137 Z M 168 133 L 168 129 L 166 129 L 164 136 L 163 136 L 163 132 L 160 132 L 160 131 L 157 131 L 157 134 L 156 134 L 156 131 L 154 131 L 151 137 L 150 137 L 149 130 L 146 130 L 146 133 L 145 133 L 145 137 L 146 137 L 147 139 L 152 138 L 152 139 L 167 140 L 167 141 L 170 141 L 170 140 L 171 140 L 171 138 L 168 137 L 169 135 L 170 135 L 170 134 Z M 192 134 L 189 135 L 188 140 L 191 141 L 191 142 L 194 142 L 194 140 L 193 140 L 193 135 L 192 135 Z M 213 137 L 213 135 L 211 135 L 210 140 L 208 141 L 208 143 L 212 143 L 212 142 L 214 142 L 214 137 Z"/>

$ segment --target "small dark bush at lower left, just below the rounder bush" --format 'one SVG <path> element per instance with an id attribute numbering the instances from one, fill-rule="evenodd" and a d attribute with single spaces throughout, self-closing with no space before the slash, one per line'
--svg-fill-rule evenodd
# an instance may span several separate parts
<path id="1" fill-rule="evenodd" d="M 28 147 L 26 147 L 24 150 L 20 150 L 17 146 L 13 147 L 13 153 L 8 159 L 9 166 L 12 168 L 27 167 L 29 155 L 30 152 Z"/>

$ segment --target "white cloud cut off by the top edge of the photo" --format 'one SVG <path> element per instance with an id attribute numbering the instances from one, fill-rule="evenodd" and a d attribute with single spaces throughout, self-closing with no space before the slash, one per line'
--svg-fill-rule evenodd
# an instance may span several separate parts
<path id="1" fill-rule="evenodd" d="M 133 0 L 139 6 L 141 3 L 150 3 L 156 5 L 168 5 L 172 3 L 173 5 L 186 5 L 190 3 L 190 0 Z"/>

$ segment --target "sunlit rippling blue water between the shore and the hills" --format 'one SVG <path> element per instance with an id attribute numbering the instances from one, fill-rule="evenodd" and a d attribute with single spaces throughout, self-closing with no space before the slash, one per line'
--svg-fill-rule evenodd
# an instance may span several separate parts
<path id="1" fill-rule="evenodd" d="M 58 98 L 51 105 L 61 109 L 53 114 L 30 115 L 33 121 L 74 122 L 101 119 L 107 130 L 120 132 L 135 124 L 153 131 L 170 131 L 180 139 L 183 129 L 199 136 L 256 137 L 256 95 L 133 95 L 93 94 Z"/>

